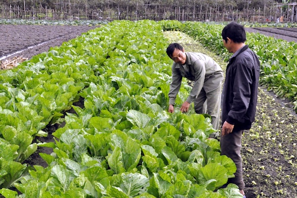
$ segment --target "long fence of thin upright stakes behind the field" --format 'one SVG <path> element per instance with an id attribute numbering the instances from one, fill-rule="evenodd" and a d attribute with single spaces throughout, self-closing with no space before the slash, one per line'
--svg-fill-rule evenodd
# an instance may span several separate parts
<path id="1" fill-rule="evenodd" d="M 168 6 L 147 4 L 142 6 L 98 7 L 93 10 L 68 6 L 68 9 L 32 7 L 23 9 L 17 5 L 0 5 L 0 18 L 39 20 L 178 20 L 178 21 L 250 21 L 297 22 L 297 3 L 286 6 L 270 6 L 245 10 L 226 10 L 222 7 Z"/>

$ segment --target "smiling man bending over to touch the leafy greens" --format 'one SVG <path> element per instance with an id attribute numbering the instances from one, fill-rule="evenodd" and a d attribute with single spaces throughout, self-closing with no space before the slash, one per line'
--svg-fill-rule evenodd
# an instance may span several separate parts
<path id="1" fill-rule="evenodd" d="M 167 55 L 174 61 L 172 65 L 172 82 L 169 91 L 169 112 L 174 112 L 174 103 L 180 90 L 182 78 L 194 81 L 191 93 L 181 106 L 182 112 L 189 110 L 194 101 L 196 113 L 208 113 L 211 116 L 213 128 L 219 128 L 220 95 L 223 81 L 223 71 L 211 57 L 198 52 L 185 52 L 177 43 L 170 44 Z M 206 112 L 203 103 L 206 100 Z M 213 137 L 211 137 L 213 136 Z M 214 138 L 215 134 L 211 134 Z"/>

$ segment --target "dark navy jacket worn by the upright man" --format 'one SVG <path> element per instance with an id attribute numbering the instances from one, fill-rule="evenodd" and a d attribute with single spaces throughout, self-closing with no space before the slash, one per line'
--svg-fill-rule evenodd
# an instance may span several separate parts
<path id="1" fill-rule="evenodd" d="M 222 124 L 234 124 L 233 130 L 250 129 L 255 120 L 260 62 L 244 46 L 230 58 L 222 92 Z"/>

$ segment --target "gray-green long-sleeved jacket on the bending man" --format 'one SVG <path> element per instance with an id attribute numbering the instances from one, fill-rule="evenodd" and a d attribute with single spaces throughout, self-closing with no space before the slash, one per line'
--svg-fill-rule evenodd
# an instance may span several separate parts
<path id="1" fill-rule="evenodd" d="M 182 78 L 185 77 L 191 81 L 195 81 L 191 93 L 186 100 L 191 103 L 197 98 L 201 89 L 205 92 L 211 92 L 221 86 L 223 79 L 223 71 L 211 57 L 198 52 L 185 52 L 186 63 L 184 65 L 173 63 L 172 65 L 172 81 L 168 94 L 169 104 L 175 103 L 176 96 L 180 90 Z M 213 75 L 217 75 L 214 81 L 208 80 Z M 213 78 L 212 78 L 213 79 Z"/>

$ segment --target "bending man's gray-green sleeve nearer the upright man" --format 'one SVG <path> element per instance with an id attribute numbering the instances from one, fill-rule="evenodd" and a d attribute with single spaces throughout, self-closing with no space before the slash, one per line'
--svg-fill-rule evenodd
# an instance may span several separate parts
<path id="1" fill-rule="evenodd" d="M 206 63 L 203 60 L 196 60 L 194 64 L 192 64 L 195 70 L 195 83 L 189 97 L 186 100 L 189 103 L 192 103 L 197 98 L 204 85 L 206 68 L 205 64 Z"/>

